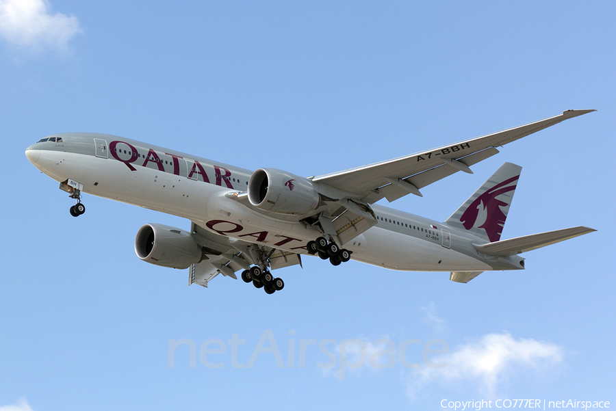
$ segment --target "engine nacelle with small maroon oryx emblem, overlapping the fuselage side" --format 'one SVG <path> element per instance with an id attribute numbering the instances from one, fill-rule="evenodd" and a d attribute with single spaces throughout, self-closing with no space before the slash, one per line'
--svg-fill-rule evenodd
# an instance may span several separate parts
<path id="1" fill-rule="evenodd" d="M 259 168 L 248 181 L 248 200 L 259 209 L 304 215 L 318 207 L 319 194 L 307 178 L 275 168 Z"/>

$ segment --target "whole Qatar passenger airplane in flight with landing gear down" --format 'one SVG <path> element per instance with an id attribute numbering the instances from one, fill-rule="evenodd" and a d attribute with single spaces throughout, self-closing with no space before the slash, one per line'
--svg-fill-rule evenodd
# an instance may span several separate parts
<path id="1" fill-rule="evenodd" d="M 60 183 L 75 205 L 81 194 L 185 217 L 190 231 L 145 224 L 135 252 L 147 263 L 189 270 L 189 285 L 242 270 L 272 294 L 284 287 L 271 271 L 319 256 L 400 271 L 450 271 L 466 283 L 484 271 L 524 269 L 523 252 L 595 230 L 585 226 L 500 239 L 519 165 L 504 163 L 444 222 L 375 204 L 393 202 L 471 166 L 522 137 L 595 110 L 563 114 L 412 155 L 323 174 L 256 171 L 100 133 L 60 133 L 27 148 L 27 159 Z"/>

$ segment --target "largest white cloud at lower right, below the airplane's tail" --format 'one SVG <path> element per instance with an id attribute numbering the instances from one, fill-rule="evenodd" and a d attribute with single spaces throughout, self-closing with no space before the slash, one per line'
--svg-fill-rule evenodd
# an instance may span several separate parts
<path id="1" fill-rule="evenodd" d="M 410 399 L 427 384 L 476 385 L 480 394 L 493 397 L 498 385 L 520 367 L 542 369 L 563 361 L 563 348 L 534 339 L 515 340 L 511 334 L 487 334 L 474 343 L 461 345 L 450 354 L 433 356 L 446 367 L 425 367 L 409 374 L 407 395 Z"/>

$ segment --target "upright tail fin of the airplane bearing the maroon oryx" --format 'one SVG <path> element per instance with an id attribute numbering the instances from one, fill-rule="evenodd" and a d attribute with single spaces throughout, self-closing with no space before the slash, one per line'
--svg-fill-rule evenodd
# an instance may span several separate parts
<path id="1" fill-rule="evenodd" d="M 488 241 L 500 240 L 522 167 L 504 163 L 445 224 Z"/>

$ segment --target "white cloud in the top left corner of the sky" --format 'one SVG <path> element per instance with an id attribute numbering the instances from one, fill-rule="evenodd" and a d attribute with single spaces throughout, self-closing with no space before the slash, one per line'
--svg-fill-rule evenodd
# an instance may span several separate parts
<path id="1" fill-rule="evenodd" d="M 47 0 L 0 0 L 0 38 L 31 49 L 64 49 L 81 33 L 75 16 L 53 14 Z"/>

